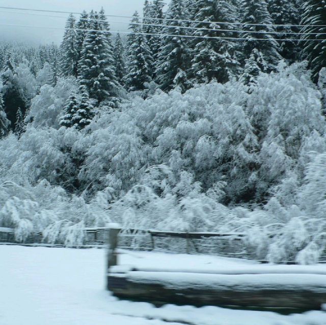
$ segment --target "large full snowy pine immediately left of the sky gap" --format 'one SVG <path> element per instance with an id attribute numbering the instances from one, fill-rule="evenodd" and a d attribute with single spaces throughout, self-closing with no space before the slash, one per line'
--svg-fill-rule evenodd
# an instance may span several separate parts
<path id="1" fill-rule="evenodd" d="M 120 85 L 114 71 L 110 36 L 104 13 L 98 15 L 91 12 L 90 29 L 86 34 L 82 58 L 78 63 L 78 78 L 80 84 L 86 86 L 91 98 L 116 107 Z"/>

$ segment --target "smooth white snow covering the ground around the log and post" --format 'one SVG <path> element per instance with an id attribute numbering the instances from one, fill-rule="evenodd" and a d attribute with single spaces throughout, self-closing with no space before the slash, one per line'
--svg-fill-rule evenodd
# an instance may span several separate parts
<path id="1" fill-rule="evenodd" d="M 178 260 L 187 271 L 205 269 L 274 270 L 285 266 L 258 265 L 249 261 L 212 256 L 126 252 L 123 264 L 169 268 Z M 173 263 L 176 265 L 175 263 Z M 175 267 L 178 267 L 176 265 Z M 326 265 L 292 267 L 302 273 L 325 274 Z M 119 301 L 104 290 L 105 251 L 0 246 L 1 325 L 325 325 L 326 312 L 280 315 L 273 312 L 195 308 Z"/>

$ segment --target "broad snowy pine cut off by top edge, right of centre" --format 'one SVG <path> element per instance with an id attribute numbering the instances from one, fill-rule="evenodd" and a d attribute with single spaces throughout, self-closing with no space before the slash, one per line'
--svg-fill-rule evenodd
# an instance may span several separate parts
<path id="1" fill-rule="evenodd" d="M 235 22 L 235 8 L 228 0 L 197 0 L 194 18 L 196 21 Z M 193 22 L 192 27 L 218 29 L 216 23 Z M 234 25 L 223 24 L 221 29 L 233 30 Z M 207 31 L 197 29 L 193 33 L 199 37 L 233 37 L 232 32 Z M 237 60 L 238 44 L 233 40 L 195 38 L 192 41 L 193 60 L 191 75 L 196 83 L 206 83 L 212 79 L 227 82 L 237 75 L 239 62 Z"/>

